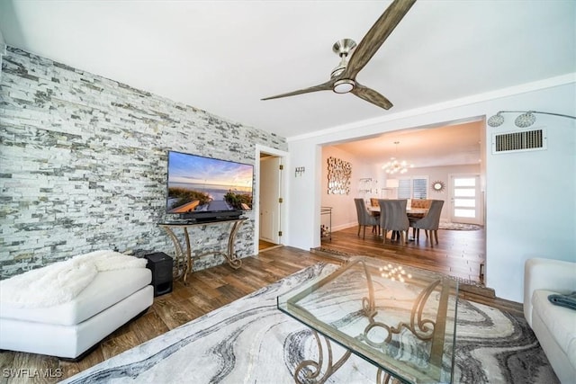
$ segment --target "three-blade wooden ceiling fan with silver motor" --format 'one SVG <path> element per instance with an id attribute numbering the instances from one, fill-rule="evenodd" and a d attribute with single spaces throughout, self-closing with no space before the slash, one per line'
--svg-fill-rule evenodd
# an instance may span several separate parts
<path id="1" fill-rule="evenodd" d="M 390 36 L 394 28 L 401 22 L 402 18 L 416 0 L 394 0 L 380 18 L 374 23 L 356 46 L 356 41 L 352 39 L 342 39 L 334 43 L 332 50 L 341 58 L 338 67 L 334 68 L 330 74 L 330 79 L 326 83 L 314 85 L 309 88 L 289 92 L 287 94 L 276 94 L 262 100 L 279 99 L 281 97 L 293 96 L 296 94 L 309 94 L 317 91 L 334 91 L 337 94 L 347 94 L 348 92 L 373 103 L 385 110 L 392 108 L 392 103 L 382 94 L 374 89 L 361 85 L 356 81 L 356 75 L 380 49 L 383 42 Z M 355 49 L 356 48 L 356 49 Z M 352 49 L 355 49 L 352 52 Z M 350 58 L 348 58 L 350 55 Z"/>

